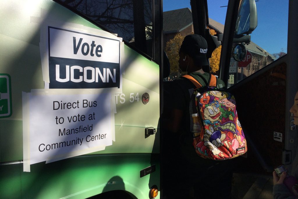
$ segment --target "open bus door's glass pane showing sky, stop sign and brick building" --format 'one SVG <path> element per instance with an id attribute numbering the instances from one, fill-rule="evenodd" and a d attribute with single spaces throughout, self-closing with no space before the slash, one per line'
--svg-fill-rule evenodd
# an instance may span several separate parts
<path id="1" fill-rule="evenodd" d="M 251 33 L 250 43 L 245 44 L 246 57 L 238 62 L 231 56 L 228 87 L 287 53 L 288 2 L 274 1 L 268 4 L 266 1 L 256 1 L 256 6 L 258 25 Z M 279 13 L 278 16 L 275 13 Z"/>

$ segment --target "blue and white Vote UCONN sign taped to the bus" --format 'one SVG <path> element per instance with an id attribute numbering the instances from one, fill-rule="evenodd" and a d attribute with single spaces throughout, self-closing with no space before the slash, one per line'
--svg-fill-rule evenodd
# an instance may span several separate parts
<path id="1" fill-rule="evenodd" d="M 120 41 L 48 27 L 49 88 L 120 87 Z"/>

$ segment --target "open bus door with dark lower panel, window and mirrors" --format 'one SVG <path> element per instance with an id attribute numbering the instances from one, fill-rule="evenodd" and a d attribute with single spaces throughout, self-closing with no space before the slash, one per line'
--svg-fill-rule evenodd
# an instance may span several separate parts
<path id="1" fill-rule="evenodd" d="M 297 147 L 289 109 L 298 90 L 298 6 L 243 0 L 229 1 L 227 9 L 220 78 L 235 95 L 248 146 L 246 157 L 236 158 L 235 172 L 271 175 L 281 164 L 291 169 Z M 272 21 L 276 13 L 280 17 Z"/>

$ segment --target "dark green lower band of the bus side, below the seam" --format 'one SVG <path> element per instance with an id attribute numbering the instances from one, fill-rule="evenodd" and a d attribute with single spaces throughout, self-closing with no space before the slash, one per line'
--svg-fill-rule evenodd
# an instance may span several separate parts
<path id="1" fill-rule="evenodd" d="M 37 163 L 31 172 L 23 172 L 21 163 L 0 165 L 1 198 L 88 198 L 113 190 L 147 198 L 151 186 L 159 186 L 148 183 L 159 181 L 158 162 L 152 162 L 155 172 L 140 178 L 151 159 L 150 154 L 85 155 Z"/>

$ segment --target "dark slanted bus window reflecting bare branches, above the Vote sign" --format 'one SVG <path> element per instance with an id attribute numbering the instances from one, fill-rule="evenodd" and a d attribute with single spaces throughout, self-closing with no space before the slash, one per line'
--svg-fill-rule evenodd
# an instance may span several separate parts
<path id="1" fill-rule="evenodd" d="M 152 0 L 57 0 L 153 58 Z"/>

